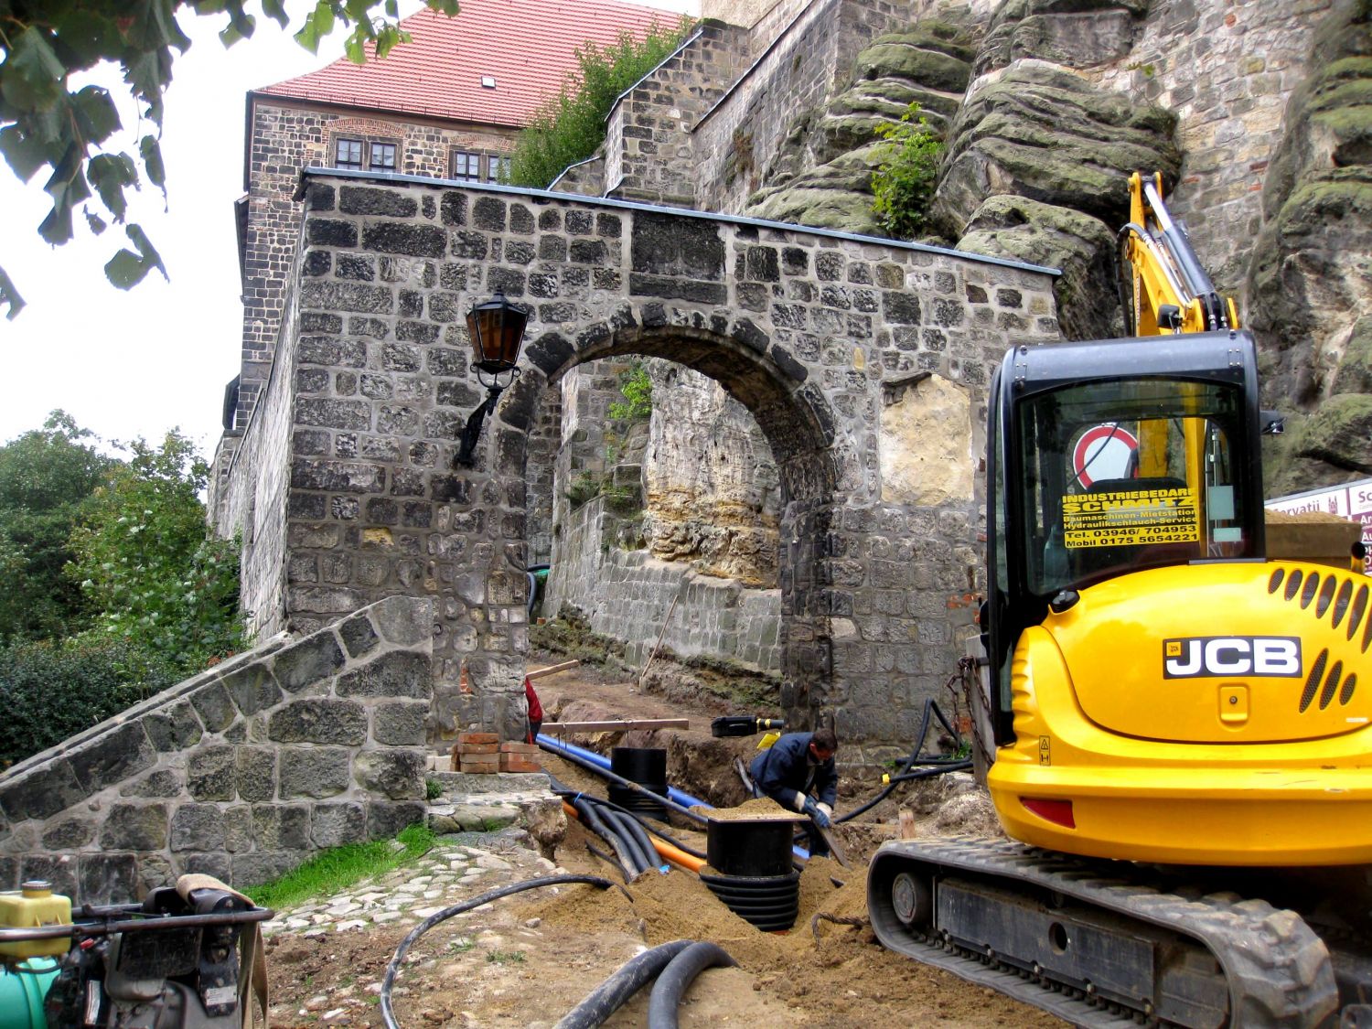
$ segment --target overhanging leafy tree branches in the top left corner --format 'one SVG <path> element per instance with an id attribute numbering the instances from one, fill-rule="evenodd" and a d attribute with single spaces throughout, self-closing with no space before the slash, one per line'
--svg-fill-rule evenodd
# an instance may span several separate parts
<path id="1" fill-rule="evenodd" d="M 457 0 L 425 3 L 457 14 Z M 261 0 L 261 5 L 265 16 L 287 26 L 283 0 Z M 383 5 L 384 18 L 372 15 L 377 5 Z M 71 239 L 77 210 L 95 235 L 104 232 L 107 220 L 122 224 L 126 191 L 137 189 L 143 178 L 166 193 L 159 147 L 162 95 L 172 81 L 173 51 L 184 54 L 191 45 L 177 25 L 181 10 L 224 16 L 220 40 L 225 47 L 251 36 L 257 26 L 257 15 L 243 0 L 0 0 L 0 155 L 25 182 L 47 172 L 44 189 L 52 210 L 38 235 L 48 243 L 60 246 Z M 317 0 L 295 38 L 314 52 L 336 25 L 351 26 L 344 48 L 351 60 L 362 63 L 369 45 L 384 58 L 406 40 L 398 18 L 397 0 Z M 74 89 L 70 82 L 73 74 L 102 62 L 119 66 L 150 129 L 139 140 L 137 155 L 106 150 L 122 128 L 110 93 L 97 85 Z M 154 269 L 166 276 L 143 229 L 130 222 L 125 235 L 133 250 L 119 250 L 106 265 L 110 281 L 128 289 Z M 4 306 L 12 318 L 23 298 L 0 269 Z"/>

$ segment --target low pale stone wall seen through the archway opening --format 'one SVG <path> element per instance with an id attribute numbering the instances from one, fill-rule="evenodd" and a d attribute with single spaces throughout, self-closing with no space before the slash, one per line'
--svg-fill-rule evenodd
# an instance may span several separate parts
<path id="1" fill-rule="evenodd" d="M 624 549 L 622 521 L 604 497 L 583 504 L 564 525 L 545 613 L 576 608 L 591 630 L 624 642 L 631 665 L 645 664 L 660 637 L 681 657 L 781 672 L 781 590 L 746 589 Z"/>

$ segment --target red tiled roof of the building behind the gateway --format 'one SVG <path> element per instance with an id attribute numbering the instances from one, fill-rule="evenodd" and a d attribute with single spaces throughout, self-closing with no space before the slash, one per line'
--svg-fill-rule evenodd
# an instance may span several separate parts
<path id="1" fill-rule="evenodd" d="M 384 60 L 328 67 L 259 93 L 423 114 L 487 125 L 523 126 L 576 67 L 587 40 L 609 44 L 628 30 L 642 38 L 656 22 L 675 29 L 681 15 L 619 0 L 461 0 L 454 18 L 424 10 L 402 25 L 413 40 Z M 482 78 L 495 81 L 484 88 Z"/>

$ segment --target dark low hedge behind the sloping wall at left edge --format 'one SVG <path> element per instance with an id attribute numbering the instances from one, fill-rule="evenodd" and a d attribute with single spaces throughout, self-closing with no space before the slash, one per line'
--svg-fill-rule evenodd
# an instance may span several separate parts
<path id="1" fill-rule="evenodd" d="M 0 649 L 0 764 L 56 746 L 180 676 L 128 643 L 84 637 Z"/>

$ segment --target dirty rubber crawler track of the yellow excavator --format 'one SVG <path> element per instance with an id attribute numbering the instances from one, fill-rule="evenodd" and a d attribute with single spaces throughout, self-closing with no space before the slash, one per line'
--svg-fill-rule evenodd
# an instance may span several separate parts
<path id="1" fill-rule="evenodd" d="M 1329 952 L 1299 915 L 1129 870 L 1008 841 L 889 842 L 867 910 L 889 949 L 1080 1026 L 1338 1025 Z"/>

